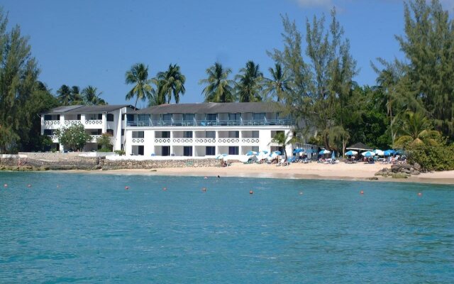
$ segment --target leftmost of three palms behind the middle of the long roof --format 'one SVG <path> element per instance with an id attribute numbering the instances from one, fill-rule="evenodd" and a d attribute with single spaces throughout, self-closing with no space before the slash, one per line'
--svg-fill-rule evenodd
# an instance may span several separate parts
<path id="1" fill-rule="evenodd" d="M 207 84 L 201 92 L 205 94 L 205 102 L 234 102 L 233 81 L 228 80 L 232 72 L 230 68 L 223 69 L 221 63 L 215 62 L 213 66 L 206 69 L 208 78 L 200 80 L 199 84 Z"/>

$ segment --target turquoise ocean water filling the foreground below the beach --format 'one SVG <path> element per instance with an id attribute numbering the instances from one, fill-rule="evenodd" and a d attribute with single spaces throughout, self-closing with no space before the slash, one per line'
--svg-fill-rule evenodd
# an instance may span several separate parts
<path id="1" fill-rule="evenodd" d="M 0 283 L 454 283 L 454 186 L 0 172 Z"/>

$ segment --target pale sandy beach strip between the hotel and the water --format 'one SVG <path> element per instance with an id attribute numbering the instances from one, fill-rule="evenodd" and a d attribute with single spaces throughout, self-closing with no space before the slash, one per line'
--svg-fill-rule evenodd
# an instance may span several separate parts
<path id="1" fill-rule="evenodd" d="M 106 173 L 118 175 L 187 175 L 187 176 L 217 176 L 221 177 L 242 177 L 242 178 L 295 178 L 295 179 L 319 179 L 319 180 L 368 180 L 375 177 L 375 173 L 382 168 L 390 168 L 386 164 L 345 164 L 326 165 L 321 163 L 293 163 L 285 167 L 267 164 L 233 163 L 227 168 L 205 167 L 205 168 L 159 168 L 134 169 L 134 170 L 71 170 L 70 172 L 80 173 Z M 396 179 L 378 176 L 377 181 L 389 182 L 421 182 L 454 185 L 454 170 L 421 173 L 410 178 Z"/>

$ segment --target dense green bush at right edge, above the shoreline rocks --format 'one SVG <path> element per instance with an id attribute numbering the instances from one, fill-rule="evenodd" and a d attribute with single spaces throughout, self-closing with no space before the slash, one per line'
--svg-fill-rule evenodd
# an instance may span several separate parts
<path id="1" fill-rule="evenodd" d="M 437 143 L 410 144 L 405 151 L 409 163 L 419 163 L 423 170 L 454 170 L 454 145 L 444 138 Z"/>

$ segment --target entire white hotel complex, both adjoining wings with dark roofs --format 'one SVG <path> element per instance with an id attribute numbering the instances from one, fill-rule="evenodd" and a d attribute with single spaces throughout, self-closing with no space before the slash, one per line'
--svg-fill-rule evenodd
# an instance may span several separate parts
<path id="1" fill-rule="evenodd" d="M 294 121 L 284 115 L 280 104 L 233 102 L 161 104 L 140 110 L 127 105 L 59 107 L 43 114 L 41 132 L 57 143 L 52 129 L 71 124 L 83 124 L 94 138 L 109 132 L 114 151 L 124 149 L 126 155 L 146 157 L 212 158 L 223 153 L 282 151 L 271 143 L 272 137 L 294 128 Z M 89 143 L 84 151 L 96 148 L 96 143 Z M 287 146 L 287 153 L 292 153 L 292 148 Z"/>

